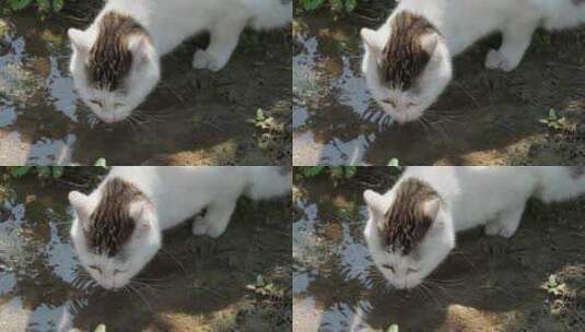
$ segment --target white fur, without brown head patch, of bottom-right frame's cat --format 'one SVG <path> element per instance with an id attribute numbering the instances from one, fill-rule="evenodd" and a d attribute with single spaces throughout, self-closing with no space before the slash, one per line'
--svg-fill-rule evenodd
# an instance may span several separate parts
<path id="1" fill-rule="evenodd" d="M 409 178 L 429 183 L 442 198 L 436 217 L 420 242 L 420 257 L 388 252 L 379 244 L 376 221 L 395 199 L 395 188 Z M 457 232 L 485 226 L 488 235 L 511 237 L 518 228 L 530 197 L 562 201 L 585 193 L 585 176 L 572 178 L 566 167 L 409 167 L 385 194 L 364 192 L 370 220 L 364 236 L 374 262 L 397 288 L 419 285 L 455 247 Z M 382 269 L 390 264 L 391 273 Z M 417 273 L 406 273 L 408 269 Z"/>

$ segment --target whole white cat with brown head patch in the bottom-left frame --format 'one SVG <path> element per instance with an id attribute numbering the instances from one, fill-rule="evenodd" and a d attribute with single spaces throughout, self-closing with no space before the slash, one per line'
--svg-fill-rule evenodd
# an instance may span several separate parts
<path id="1" fill-rule="evenodd" d="M 162 230 L 204 211 L 194 235 L 217 238 L 239 195 L 271 199 L 291 192 L 279 167 L 114 167 L 91 194 L 69 193 L 71 239 L 81 264 L 106 289 L 130 283 L 161 248 Z"/>

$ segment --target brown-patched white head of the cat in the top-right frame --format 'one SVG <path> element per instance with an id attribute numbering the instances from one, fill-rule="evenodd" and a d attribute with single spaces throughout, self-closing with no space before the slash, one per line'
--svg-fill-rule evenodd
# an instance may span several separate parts
<path id="1" fill-rule="evenodd" d="M 361 36 L 362 71 L 374 99 L 399 123 L 419 119 L 453 76 L 444 38 L 429 21 L 409 12 L 379 31 L 362 28 Z"/>

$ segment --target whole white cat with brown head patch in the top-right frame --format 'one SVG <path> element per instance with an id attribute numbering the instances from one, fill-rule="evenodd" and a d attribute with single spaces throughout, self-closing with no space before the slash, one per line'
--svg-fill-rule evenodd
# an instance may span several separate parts
<path id="1" fill-rule="evenodd" d="M 398 123 L 414 121 L 453 79 L 453 57 L 501 32 L 488 69 L 515 69 L 538 27 L 585 22 L 585 0 L 402 0 L 377 29 L 361 29 L 362 72 L 376 103 Z"/>

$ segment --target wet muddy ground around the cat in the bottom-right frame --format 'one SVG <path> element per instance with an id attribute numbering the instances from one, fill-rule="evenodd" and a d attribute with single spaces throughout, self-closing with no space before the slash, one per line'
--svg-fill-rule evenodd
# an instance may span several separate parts
<path id="1" fill-rule="evenodd" d="M 375 175 L 377 174 L 377 175 Z M 584 331 L 585 199 L 533 201 L 511 239 L 475 229 L 432 275 L 432 292 L 396 292 L 376 273 L 362 236 L 365 188 L 384 191 L 388 169 L 360 169 L 337 186 L 295 188 L 295 331 Z"/>

